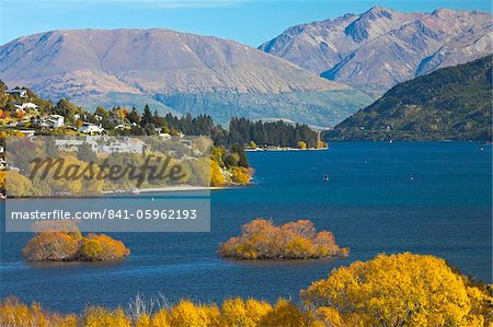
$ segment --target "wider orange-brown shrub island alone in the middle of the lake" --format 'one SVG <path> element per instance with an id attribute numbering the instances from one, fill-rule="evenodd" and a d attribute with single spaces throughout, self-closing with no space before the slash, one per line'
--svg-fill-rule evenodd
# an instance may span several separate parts
<path id="1" fill-rule="evenodd" d="M 335 244 L 331 232 L 317 232 L 309 220 L 282 225 L 255 219 L 241 227 L 242 234 L 231 237 L 219 247 L 218 255 L 245 260 L 322 259 L 347 257 L 349 249 Z"/>

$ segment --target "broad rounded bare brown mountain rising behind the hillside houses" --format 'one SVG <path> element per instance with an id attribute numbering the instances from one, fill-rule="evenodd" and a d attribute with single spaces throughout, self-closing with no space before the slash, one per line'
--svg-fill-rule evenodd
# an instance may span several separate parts
<path id="1" fill-rule="evenodd" d="M 335 125 L 370 100 L 255 48 L 169 30 L 53 31 L 0 47 L 0 78 L 80 105 Z"/>

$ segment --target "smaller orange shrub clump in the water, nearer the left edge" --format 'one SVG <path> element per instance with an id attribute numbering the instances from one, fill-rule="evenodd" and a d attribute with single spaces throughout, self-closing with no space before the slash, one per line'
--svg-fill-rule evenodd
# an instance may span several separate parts
<path id="1" fill-rule="evenodd" d="M 28 261 L 113 261 L 129 254 L 121 241 L 104 234 L 82 236 L 79 230 L 37 232 L 22 249 Z"/>

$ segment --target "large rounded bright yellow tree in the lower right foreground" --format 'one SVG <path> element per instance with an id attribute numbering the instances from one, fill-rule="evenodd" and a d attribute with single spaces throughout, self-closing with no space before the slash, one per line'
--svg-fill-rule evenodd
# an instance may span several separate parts
<path id="1" fill-rule="evenodd" d="M 493 300 L 443 259 L 409 253 L 341 267 L 301 299 L 346 326 L 482 326 Z"/>

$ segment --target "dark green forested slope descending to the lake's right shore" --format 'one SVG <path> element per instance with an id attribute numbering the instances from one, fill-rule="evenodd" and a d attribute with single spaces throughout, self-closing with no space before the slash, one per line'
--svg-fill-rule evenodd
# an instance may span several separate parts
<path id="1" fill-rule="evenodd" d="M 330 138 L 491 141 L 492 60 L 490 55 L 398 84 Z"/>

